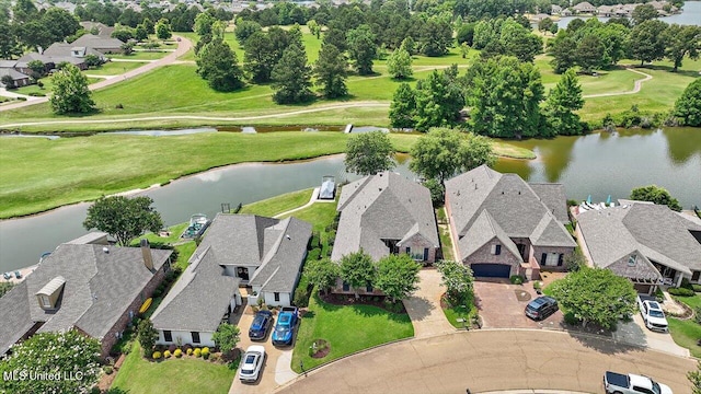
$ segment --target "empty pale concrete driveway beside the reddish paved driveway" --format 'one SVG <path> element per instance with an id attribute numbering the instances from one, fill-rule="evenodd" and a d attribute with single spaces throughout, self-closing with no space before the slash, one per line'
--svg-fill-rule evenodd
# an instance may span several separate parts
<path id="1" fill-rule="evenodd" d="M 456 328 L 448 323 L 440 309 L 440 296 L 446 292 L 440 286 L 440 274 L 435 268 L 424 268 L 418 277 L 418 290 L 404 300 L 404 308 L 414 326 L 414 337 L 455 333 Z"/>

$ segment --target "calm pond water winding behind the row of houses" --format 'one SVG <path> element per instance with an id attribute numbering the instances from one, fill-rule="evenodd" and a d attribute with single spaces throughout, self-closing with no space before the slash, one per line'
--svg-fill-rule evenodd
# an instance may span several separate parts
<path id="1" fill-rule="evenodd" d="M 499 160 L 497 171 L 515 172 L 530 182 L 561 182 L 568 198 L 625 198 L 633 187 L 657 184 L 669 189 L 685 209 L 701 206 L 701 129 L 623 130 L 513 143 L 535 150 L 538 159 Z M 397 171 L 413 176 L 406 157 L 400 159 Z M 197 212 L 214 217 L 222 202 L 233 208 L 319 186 L 324 175 L 337 181 L 357 178 L 344 172 L 343 158 L 336 155 L 290 164 L 231 165 L 142 194 L 153 198 L 166 224 L 175 224 Z M 78 204 L 0 221 L 0 271 L 35 264 L 42 253 L 83 234 L 88 207 Z"/>

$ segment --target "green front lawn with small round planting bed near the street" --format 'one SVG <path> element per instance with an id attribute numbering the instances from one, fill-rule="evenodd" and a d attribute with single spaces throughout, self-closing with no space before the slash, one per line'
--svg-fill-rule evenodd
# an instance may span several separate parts
<path id="1" fill-rule="evenodd" d="M 309 300 L 309 312 L 301 318 L 299 334 L 292 352 L 292 369 L 304 369 L 335 360 L 355 351 L 409 338 L 414 328 L 406 314 L 394 314 L 370 305 L 332 305 L 314 296 Z M 309 356 L 315 339 L 325 339 L 331 345 L 330 354 L 322 359 Z"/>

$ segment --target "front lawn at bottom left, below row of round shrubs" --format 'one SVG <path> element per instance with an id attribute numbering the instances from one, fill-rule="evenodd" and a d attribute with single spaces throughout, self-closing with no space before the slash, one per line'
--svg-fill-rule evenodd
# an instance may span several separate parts
<path id="1" fill-rule="evenodd" d="M 113 387 L 129 394 L 153 393 L 228 393 L 235 369 L 203 359 L 171 358 L 151 362 L 141 357 L 141 347 L 134 344 L 117 372 Z"/>

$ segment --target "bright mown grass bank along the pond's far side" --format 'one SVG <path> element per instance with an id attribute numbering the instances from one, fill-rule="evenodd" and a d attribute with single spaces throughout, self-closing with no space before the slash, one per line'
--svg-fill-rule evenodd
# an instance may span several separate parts
<path id="1" fill-rule="evenodd" d="M 170 137 L 97 135 L 58 140 L 8 138 L 0 144 L 3 181 L 0 218 L 36 213 L 102 195 L 163 184 L 227 164 L 292 161 L 342 153 L 348 135 L 342 132 L 302 131 Z M 390 135 L 400 152 L 407 152 L 417 138 L 417 135 Z M 508 147 L 507 143 L 495 143 L 497 153 Z M 525 155 L 532 154 L 522 151 Z"/>

